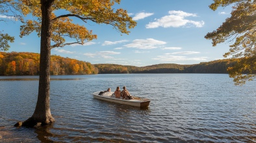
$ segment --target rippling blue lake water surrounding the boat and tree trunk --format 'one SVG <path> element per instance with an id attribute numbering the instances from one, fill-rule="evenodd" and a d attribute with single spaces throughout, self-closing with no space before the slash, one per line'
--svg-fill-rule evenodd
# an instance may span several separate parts
<path id="1" fill-rule="evenodd" d="M 256 82 L 228 74 L 51 76 L 51 113 L 40 129 L 16 128 L 36 105 L 38 76 L 0 76 L 0 142 L 255 142 Z M 149 107 L 97 100 L 125 85 Z"/>

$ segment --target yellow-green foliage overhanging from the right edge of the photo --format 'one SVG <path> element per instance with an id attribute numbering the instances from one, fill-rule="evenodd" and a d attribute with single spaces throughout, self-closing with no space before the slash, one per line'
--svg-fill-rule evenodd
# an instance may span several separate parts
<path id="1" fill-rule="evenodd" d="M 228 41 L 229 52 L 224 57 L 238 58 L 233 67 L 229 67 L 229 76 L 236 85 L 256 78 L 256 1 L 255 0 L 214 0 L 209 7 L 216 10 L 219 6 L 233 5 L 231 17 L 222 25 L 209 32 L 205 38 L 212 39 L 212 45 Z M 246 74 L 244 74 L 246 73 Z"/>

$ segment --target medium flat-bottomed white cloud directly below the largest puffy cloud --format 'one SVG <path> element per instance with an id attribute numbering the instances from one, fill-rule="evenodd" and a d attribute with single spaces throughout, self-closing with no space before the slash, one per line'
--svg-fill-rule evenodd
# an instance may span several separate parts
<path id="1" fill-rule="evenodd" d="M 153 38 L 147 38 L 147 39 L 134 39 L 133 43 L 129 43 L 127 45 L 124 45 L 128 48 L 138 48 L 138 49 L 156 49 L 159 47 L 159 45 L 164 45 L 166 42 L 159 41 Z"/>

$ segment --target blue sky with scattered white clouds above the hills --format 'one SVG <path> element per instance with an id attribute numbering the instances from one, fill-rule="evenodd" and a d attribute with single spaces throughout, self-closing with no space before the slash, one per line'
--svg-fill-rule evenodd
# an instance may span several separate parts
<path id="1" fill-rule="evenodd" d="M 69 45 L 51 50 L 51 54 L 90 63 L 114 63 L 138 67 L 159 63 L 194 64 L 223 59 L 229 43 L 212 47 L 204 36 L 216 30 L 231 7 L 213 11 L 212 0 L 122 0 L 116 8 L 127 10 L 137 22 L 129 35 L 110 25 L 81 23 L 97 39 L 84 45 Z M 8 18 L 0 16 L 0 18 Z M 0 30 L 15 36 L 8 52 L 40 52 L 40 38 L 33 32 L 19 38 L 19 22 L 0 23 Z M 71 39 L 67 39 L 72 41 Z"/>

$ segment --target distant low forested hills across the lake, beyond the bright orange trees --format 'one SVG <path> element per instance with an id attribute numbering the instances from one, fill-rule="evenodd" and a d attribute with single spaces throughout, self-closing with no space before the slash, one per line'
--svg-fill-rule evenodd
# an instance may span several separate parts
<path id="1" fill-rule="evenodd" d="M 146 67 L 130 65 L 95 64 L 99 74 L 126 74 L 126 73 L 224 73 L 227 67 L 235 64 L 234 60 L 216 60 L 202 62 L 194 65 L 179 65 L 174 63 L 162 63 Z"/>

